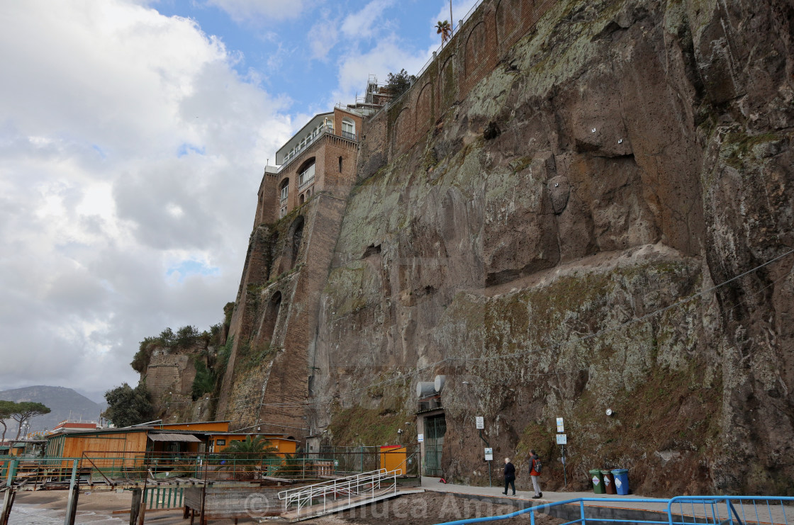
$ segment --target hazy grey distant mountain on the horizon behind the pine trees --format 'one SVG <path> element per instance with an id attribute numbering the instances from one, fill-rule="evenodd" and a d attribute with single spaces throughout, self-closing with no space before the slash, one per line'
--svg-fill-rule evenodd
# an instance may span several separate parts
<path id="1" fill-rule="evenodd" d="M 72 389 L 62 386 L 27 386 L 24 389 L 0 391 L 0 400 L 36 401 L 45 404 L 52 412 L 44 416 L 36 416 L 30 420 L 31 432 L 50 429 L 63 420 L 97 421 L 99 413 L 105 409 L 102 404 L 94 403 L 87 397 Z M 8 425 L 6 439 L 17 435 L 17 422 Z M 2 433 L 2 427 L 0 427 Z"/>

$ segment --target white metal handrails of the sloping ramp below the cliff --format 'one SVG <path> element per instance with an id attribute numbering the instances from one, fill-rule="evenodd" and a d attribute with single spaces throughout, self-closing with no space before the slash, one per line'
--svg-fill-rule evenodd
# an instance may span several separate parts
<path id="1" fill-rule="evenodd" d="M 400 469 L 378 469 L 298 489 L 287 489 L 279 492 L 279 500 L 284 502 L 284 511 L 295 505 L 297 515 L 300 515 L 301 510 L 314 504 L 319 505 L 322 499 L 322 511 L 326 512 L 328 505 L 338 500 L 346 499 L 348 504 L 352 504 L 353 498 L 362 498 L 360 501 L 363 503 L 389 492 L 396 493 L 397 475 L 401 472 Z"/>

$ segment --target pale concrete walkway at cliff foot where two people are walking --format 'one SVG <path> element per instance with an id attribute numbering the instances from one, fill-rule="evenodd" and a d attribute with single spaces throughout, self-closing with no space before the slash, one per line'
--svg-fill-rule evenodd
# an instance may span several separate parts
<path id="1" fill-rule="evenodd" d="M 496 482 L 500 482 L 501 479 L 496 480 Z M 541 486 L 543 486 L 541 484 Z M 439 481 L 437 477 L 422 477 L 422 488 L 428 491 L 434 492 L 449 492 L 453 494 L 461 494 L 461 495 L 469 495 L 469 496 L 476 496 L 476 497 L 488 497 L 488 498 L 495 498 L 499 500 L 514 500 L 515 504 L 522 506 L 522 504 L 526 504 L 526 500 L 530 502 L 535 502 L 536 504 L 545 504 L 545 503 L 553 503 L 555 501 L 565 501 L 565 500 L 576 500 L 579 498 L 594 498 L 594 499 L 608 499 L 608 498 L 619 498 L 620 501 L 588 501 L 585 502 L 585 506 L 587 507 L 601 507 L 601 508 L 608 508 L 611 511 L 612 515 L 617 517 L 618 515 L 626 514 L 626 512 L 621 511 L 650 511 L 650 512 L 659 512 L 660 516 L 658 519 L 665 520 L 667 519 L 667 502 L 668 500 L 658 500 L 657 498 L 646 498 L 643 496 L 634 496 L 634 495 L 627 495 L 627 496 L 615 496 L 614 494 L 595 494 L 593 492 L 543 492 L 543 497 L 538 500 L 532 499 L 534 496 L 534 492 L 531 491 L 516 491 L 515 496 L 511 495 L 511 491 L 508 490 L 507 496 L 505 496 L 502 491 L 504 490 L 502 486 L 493 486 L 493 487 L 475 487 L 470 485 L 453 485 L 453 484 L 444 484 Z M 515 501 L 518 500 L 518 501 Z M 648 501 L 648 500 L 656 500 L 656 501 Z M 740 516 L 742 516 L 742 508 L 741 505 L 736 505 L 736 510 Z M 783 507 L 777 502 L 773 502 L 769 508 L 766 507 L 766 504 L 759 504 L 757 508 L 754 507 L 754 504 L 750 502 L 745 502 L 743 512 L 746 514 L 746 518 L 748 521 L 756 521 L 756 510 L 759 512 L 757 521 L 762 523 L 794 523 L 794 509 L 792 507 Z M 680 512 L 684 513 L 684 515 L 696 515 L 699 517 L 703 517 L 706 515 L 711 515 L 711 508 L 706 508 L 703 504 L 700 505 L 692 505 L 692 504 L 683 504 L 683 507 L 674 504 L 673 512 L 676 514 L 680 514 Z M 719 512 L 722 514 L 723 519 L 727 517 L 726 515 L 726 507 L 724 504 L 719 505 Z"/>

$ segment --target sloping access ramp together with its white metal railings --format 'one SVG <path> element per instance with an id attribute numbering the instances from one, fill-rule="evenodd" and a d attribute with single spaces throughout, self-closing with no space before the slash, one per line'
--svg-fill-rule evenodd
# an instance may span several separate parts
<path id="1" fill-rule="evenodd" d="M 279 500 L 284 502 L 284 512 L 281 516 L 289 519 L 290 522 L 296 522 L 372 504 L 402 494 L 424 492 L 424 489 L 400 489 L 397 485 L 397 476 L 401 473 L 401 469 L 378 469 L 283 490 L 279 492 Z"/>

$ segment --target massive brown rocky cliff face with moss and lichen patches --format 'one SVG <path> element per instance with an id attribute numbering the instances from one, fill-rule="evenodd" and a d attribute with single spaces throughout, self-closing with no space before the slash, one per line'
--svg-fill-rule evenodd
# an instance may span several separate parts
<path id="1" fill-rule="evenodd" d="M 485 416 L 559 487 L 565 417 L 574 487 L 622 466 L 648 495 L 790 492 L 792 57 L 784 0 L 556 2 L 417 144 L 360 163 L 310 420 L 391 435 L 446 374 L 448 479 L 486 482 Z"/>

